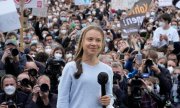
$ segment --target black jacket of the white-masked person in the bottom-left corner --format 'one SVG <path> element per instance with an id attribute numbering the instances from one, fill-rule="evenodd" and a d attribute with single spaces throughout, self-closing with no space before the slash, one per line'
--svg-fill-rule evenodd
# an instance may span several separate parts
<path id="1" fill-rule="evenodd" d="M 25 108 L 27 99 L 28 95 L 20 91 L 16 91 L 15 95 L 12 97 L 6 96 L 4 92 L 0 93 L 0 104 L 12 100 L 15 102 L 17 108 Z"/>

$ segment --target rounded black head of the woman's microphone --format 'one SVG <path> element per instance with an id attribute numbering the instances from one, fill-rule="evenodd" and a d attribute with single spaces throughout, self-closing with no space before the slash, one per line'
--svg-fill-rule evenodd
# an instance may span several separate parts
<path id="1" fill-rule="evenodd" d="M 98 75 L 98 83 L 100 85 L 105 85 L 108 81 L 108 74 L 106 72 L 101 72 Z"/>

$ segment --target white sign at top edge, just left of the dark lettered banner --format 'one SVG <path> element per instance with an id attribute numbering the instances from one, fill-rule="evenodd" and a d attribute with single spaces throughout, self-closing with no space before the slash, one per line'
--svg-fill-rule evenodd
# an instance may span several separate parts
<path id="1" fill-rule="evenodd" d="M 111 8 L 118 10 L 131 9 L 139 0 L 111 0 Z"/>

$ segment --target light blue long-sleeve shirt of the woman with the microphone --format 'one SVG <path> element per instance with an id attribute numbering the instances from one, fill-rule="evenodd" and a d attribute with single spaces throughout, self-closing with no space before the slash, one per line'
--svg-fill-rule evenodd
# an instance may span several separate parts
<path id="1" fill-rule="evenodd" d="M 100 72 L 106 72 L 109 80 L 106 94 L 112 99 L 113 72 L 110 66 L 99 62 L 90 66 L 82 62 L 83 73 L 79 79 L 74 78 L 76 63 L 69 62 L 63 69 L 58 86 L 57 108 L 102 108 L 100 103 L 101 86 L 97 82 Z"/>

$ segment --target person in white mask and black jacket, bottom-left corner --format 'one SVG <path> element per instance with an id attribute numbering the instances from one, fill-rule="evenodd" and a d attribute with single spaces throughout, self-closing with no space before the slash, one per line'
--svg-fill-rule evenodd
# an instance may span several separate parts
<path id="1" fill-rule="evenodd" d="M 17 90 L 15 76 L 6 74 L 1 79 L 0 107 L 1 108 L 24 108 L 28 95 Z"/>

